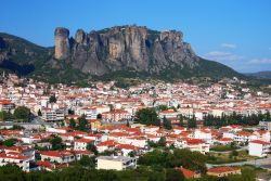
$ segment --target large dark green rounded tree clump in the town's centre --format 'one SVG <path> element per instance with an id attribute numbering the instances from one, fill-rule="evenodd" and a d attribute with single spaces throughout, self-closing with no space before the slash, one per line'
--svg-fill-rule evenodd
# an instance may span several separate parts
<path id="1" fill-rule="evenodd" d="M 154 108 L 142 108 L 136 113 L 136 121 L 144 125 L 159 126 L 160 121 Z"/>

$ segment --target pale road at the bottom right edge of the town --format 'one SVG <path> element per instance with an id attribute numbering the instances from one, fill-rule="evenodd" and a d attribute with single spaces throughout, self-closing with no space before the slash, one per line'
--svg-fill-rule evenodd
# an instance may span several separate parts
<path id="1" fill-rule="evenodd" d="M 218 166 L 243 166 L 243 165 L 254 165 L 259 167 L 270 167 L 271 166 L 271 157 L 260 158 L 256 160 L 247 160 L 247 161 L 240 161 L 240 163 L 230 163 L 230 164 L 206 164 L 207 168 L 218 167 Z"/>

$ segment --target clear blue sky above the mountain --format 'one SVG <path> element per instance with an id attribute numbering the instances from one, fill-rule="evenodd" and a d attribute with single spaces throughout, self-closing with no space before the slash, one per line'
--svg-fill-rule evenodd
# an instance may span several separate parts
<path id="1" fill-rule="evenodd" d="M 0 31 L 44 47 L 116 25 L 181 30 L 197 55 L 241 73 L 271 70 L 271 0 L 1 0 Z"/>

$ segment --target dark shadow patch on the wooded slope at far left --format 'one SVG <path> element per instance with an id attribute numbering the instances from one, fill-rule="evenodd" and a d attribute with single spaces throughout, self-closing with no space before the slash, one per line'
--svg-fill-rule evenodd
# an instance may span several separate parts
<path id="1" fill-rule="evenodd" d="M 35 70 L 35 66 L 31 64 L 20 65 L 20 64 L 14 63 L 10 60 L 2 61 L 0 63 L 0 68 L 9 69 L 11 72 L 16 73 L 17 75 L 21 75 L 21 76 L 27 76 L 28 74 L 30 74 Z"/>

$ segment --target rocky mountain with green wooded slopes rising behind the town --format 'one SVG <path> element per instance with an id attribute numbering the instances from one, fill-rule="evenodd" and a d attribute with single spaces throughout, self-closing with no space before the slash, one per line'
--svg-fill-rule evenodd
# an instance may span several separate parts
<path id="1" fill-rule="evenodd" d="M 197 56 L 183 34 L 144 26 L 116 26 L 74 37 L 59 27 L 54 48 L 0 34 L 0 67 L 22 75 L 70 82 L 93 78 L 139 77 L 175 80 L 189 77 L 242 77 L 232 68 Z"/>

